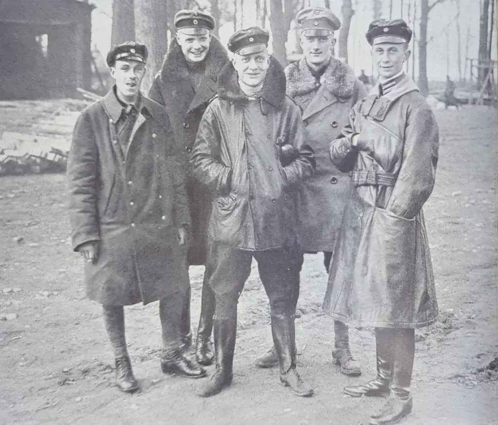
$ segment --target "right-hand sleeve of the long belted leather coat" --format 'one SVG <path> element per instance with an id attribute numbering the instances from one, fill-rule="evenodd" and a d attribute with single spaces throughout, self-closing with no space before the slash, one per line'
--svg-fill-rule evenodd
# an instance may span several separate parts
<path id="1" fill-rule="evenodd" d="M 438 161 L 439 130 L 428 105 L 408 111 L 401 168 L 386 209 L 413 218 L 434 187 Z"/>

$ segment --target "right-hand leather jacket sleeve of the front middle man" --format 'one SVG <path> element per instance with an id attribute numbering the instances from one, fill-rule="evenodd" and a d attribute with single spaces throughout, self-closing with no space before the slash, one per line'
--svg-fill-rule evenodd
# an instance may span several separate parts
<path id="1" fill-rule="evenodd" d="M 290 164 L 282 167 L 288 184 L 296 184 L 311 177 L 315 172 L 316 161 L 313 148 L 305 143 L 306 134 L 299 108 L 295 106 L 290 115 L 288 143 L 299 152 Z"/>

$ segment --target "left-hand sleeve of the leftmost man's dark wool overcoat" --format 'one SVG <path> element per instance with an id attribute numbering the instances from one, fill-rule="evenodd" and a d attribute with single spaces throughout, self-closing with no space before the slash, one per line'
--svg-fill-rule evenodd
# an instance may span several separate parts
<path id="1" fill-rule="evenodd" d="M 98 150 L 90 117 L 83 112 L 76 122 L 67 165 L 69 218 L 74 251 L 100 241 L 97 211 Z"/>

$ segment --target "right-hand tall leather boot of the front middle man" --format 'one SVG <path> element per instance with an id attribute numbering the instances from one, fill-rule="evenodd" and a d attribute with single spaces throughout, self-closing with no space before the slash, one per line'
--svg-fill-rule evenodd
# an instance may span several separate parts
<path id="1" fill-rule="evenodd" d="M 296 332 L 294 317 L 286 314 L 271 316 L 271 333 L 280 363 L 280 382 L 300 397 L 309 397 L 313 389 L 306 384 L 296 370 Z"/>

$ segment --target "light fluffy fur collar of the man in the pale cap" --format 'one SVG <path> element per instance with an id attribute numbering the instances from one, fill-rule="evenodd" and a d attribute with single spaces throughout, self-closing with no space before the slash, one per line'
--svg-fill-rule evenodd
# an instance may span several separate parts
<path id="1" fill-rule="evenodd" d="M 316 79 L 304 57 L 287 66 L 285 75 L 287 76 L 287 95 L 292 99 L 316 90 Z M 334 96 L 347 99 L 353 95 L 355 90 L 356 76 L 349 65 L 331 58 L 327 69 L 320 77 L 320 83 Z"/>

